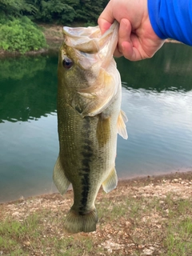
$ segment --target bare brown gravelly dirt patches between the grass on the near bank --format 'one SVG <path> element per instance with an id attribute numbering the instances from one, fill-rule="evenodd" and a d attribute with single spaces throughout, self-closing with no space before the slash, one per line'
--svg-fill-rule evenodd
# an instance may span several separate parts
<path id="1" fill-rule="evenodd" d="M 192 198 L 192 171 L 119 181 L 118 187 L 109 194 L 106 194 L 105 197 L 109 199 L 111 204 L 113 202 L 114 204 L 118 204 L 126 197 L 135 198 L 135 200 L 142 197 L 146 198 L 146 202 L 156 197 L 161 199 L 160 202 L 163 206 L 166 196 L 170 193 L 174 194 L 173 200 L 177 200 L 178 198 L 179 200 Z M 99 204 L 102 205 L 102 197 L 103 191 L 100 190 L 96 199 L 97 207 Z M 49 209 L 50 212 L 54 213 L 54 216 L 59 216 L 61 211 L 66 213 L 70 209 L 72 202 L 73 192 L 71 190 L 64 196 L 55 193 L 40 195 L 34 198 L 21 198 L 17 202 L 0 204 L 0 221 L 7 216 L 12 216 L 14 219 L 21 221 L 21 219 L 26 218 L 31 213 L 42 209 Z M 107 207 L 109 209 L 110 206 Z M 145 203 L 143 207 L 146 207 Z M 163 207 L 165 208 L 165 213 L 166 211 L 168 213 L 169 210 L 166 209 L 166 206 Z M 102 215 L 105 214 L 102 213 Z M 150 224 L 148 223 L 149 219 Z M 146 223 L 148 223 L 147 229 Z M 104 248 L 106 251 L 105 254 L 101 253 L 95 255 L 166 255 L 162 250 L 161 239 L 163 237 L 163 228 L 161 223 L 162 216 L 154 209 L 151 210 L 150 216 L 149 214 L 146 216 L 143 215 L 142 220 L 139 221 L 134 230 L 132 229 L 132 227 L 135 226 L 133 218 L 126 218 L 125 220 L 122 215 L 118 218 L 118 222 L 117 218 L 114 218 L 114 221 L 111 219 L 110 222 L 107 222 L 106 219 L 100 216 L 97 231 L 90 234 L 82 233 L 81 237 L 93 239 L 95 246 L 101 246 L 102 250 Z M 143 232 L 143 230 L 148 230 L 147 232 L 150 232 L 150 234 L 146 235 L 146 231 Z M 161 230 L 158 231 L 159 234 L 157 230 Z M 58 232 L 57 230 L 58 236 L 62 238 L 62 229 L 60 231 L 61 232 Z M 157 234 L 158 237 L 155 237 Z M 74 234 L 74 238 L 78 239 L 78 235 L 79 234 Z M 135 237 L 137 237 L 140 242 L 136 241 Z M 136 250 L 140 253 L 135 254 L 134 252 Z"/>

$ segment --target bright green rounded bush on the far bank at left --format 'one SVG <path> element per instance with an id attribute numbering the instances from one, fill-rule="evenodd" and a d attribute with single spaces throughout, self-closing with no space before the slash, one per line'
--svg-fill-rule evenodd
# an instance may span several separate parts
<path id="1" fill-rule="evenodd" d="M 39 50 L 46 47 L 46 39 L 41 30 L 23 16 L 20 19 L 12 18 L 5 22 L 0 20 L 0 50 L 18 51 L 21 54 L 30 50 Z"/>

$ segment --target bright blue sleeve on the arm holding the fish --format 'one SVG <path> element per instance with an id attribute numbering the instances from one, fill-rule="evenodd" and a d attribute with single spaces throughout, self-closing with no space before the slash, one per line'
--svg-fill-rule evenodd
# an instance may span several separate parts
<path id="1" fill-rule="evenodd" d="M 192 46 L 192 0 L 148 0 L 148 11 L 159 38 Z"/>

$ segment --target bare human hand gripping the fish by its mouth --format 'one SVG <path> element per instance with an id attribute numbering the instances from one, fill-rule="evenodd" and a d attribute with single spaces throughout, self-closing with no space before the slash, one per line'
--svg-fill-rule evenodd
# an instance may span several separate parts
<path id="1" fill-rule="evenodd" d="M 120 26 L 114 56 L 130 61 L 151 58 L 165 40 L 158 38 L 150 24 L 147 0 L 110 0 L 98 18 L 102 34 L 116 19 Z"/>

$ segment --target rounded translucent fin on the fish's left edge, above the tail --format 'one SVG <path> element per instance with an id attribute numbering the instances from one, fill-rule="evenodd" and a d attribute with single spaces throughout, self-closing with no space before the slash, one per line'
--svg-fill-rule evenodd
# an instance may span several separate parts
<path id="1" fill-rule="evenodd" d="M 60 158 L 58 156 L 58 160 L 54 166 L 54 184 L 57 186 L 59 193 L 65 194 L 66 190 L 70 186 L 70 181 L 66 178 L 65 171 L 62 168 L 62 164 L 60 162 Z"/>

